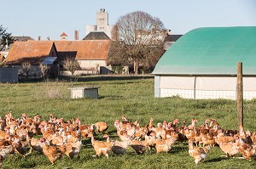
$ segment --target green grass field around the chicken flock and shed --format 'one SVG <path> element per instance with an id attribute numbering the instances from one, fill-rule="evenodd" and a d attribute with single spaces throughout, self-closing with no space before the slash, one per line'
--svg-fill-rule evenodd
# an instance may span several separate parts
<path id="1" fill-rule="evenodd" d="M 96 86 L 100 99 L 70 99 L 70 87 Z M 226 99 L 180 99 L 178 97 L 155 99 L 153 76 L 86 76 L 77 79 L 44 82 L 0 83 L 1 116 L 13 112 L 15 118 L 22 113 L 41 115 L 48 120 L 49 114 L 64 120 L 79 118 L 82 123 L 92 124 L 106 121 L 110 139 L 116 139 L 113 121 L 125 115 L 131 121 L 139 121 L 141 126 L 150 117 L 154 123 L 198 119 L 197 126 L 207 118 L 215 118 L 221 127 L 237 129 L 236 101 Z M 256 131 L 256 100 L 244 103 L 245 130 Z M 96 139 L 102 138 L 98 135 Z M 26 158 L 9 155 L 3 168 L 255 168 L 256 161 L 227 159 L 218 147 L 210 150 L 207 159 L 195 165 L 188 153 L 188 144 L 177 143 L 169 153 L 136 155 L 128 149 L 126 155 L 101 157 L 96 159 L 90 138 L 83 141 L 80 159 L 69 159 L 63 155 L 54 166 L 37 152 Z"/>

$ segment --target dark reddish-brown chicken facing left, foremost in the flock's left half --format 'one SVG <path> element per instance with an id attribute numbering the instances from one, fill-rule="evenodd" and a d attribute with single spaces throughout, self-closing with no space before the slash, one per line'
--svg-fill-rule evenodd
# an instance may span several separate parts
<path id="1" fill-rule="evenodd" d="M 43 143 L 43 153 L 47 156 L 52 165 L 55 161 L 61 159 L 61 149 L 55 145 L 49 145 L 49 141 L 45 138 L 41 138 L 40 141 Z"/>

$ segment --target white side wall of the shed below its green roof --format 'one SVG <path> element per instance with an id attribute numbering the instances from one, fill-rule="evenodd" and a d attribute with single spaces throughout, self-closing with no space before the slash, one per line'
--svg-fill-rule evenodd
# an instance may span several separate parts
<path id="1" fill-rule="evenodd" d="M 236 76 L 158 76 L 158 97 L 236 99 Z M 156 83 L 156 80 L 155 82 Z M 256 77 L 243 77 L 243 99 L 256 99 Z"/>

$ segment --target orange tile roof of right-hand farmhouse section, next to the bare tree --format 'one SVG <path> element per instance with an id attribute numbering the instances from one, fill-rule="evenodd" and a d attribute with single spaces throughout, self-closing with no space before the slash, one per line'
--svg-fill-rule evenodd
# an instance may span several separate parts
<path id="1" fill-rule="evenodd" d="M 106 60 L 110 43 L 110 40 L 56 41 L 55 47 L 60 59 L 73 56 L 75 59 Z"/>

